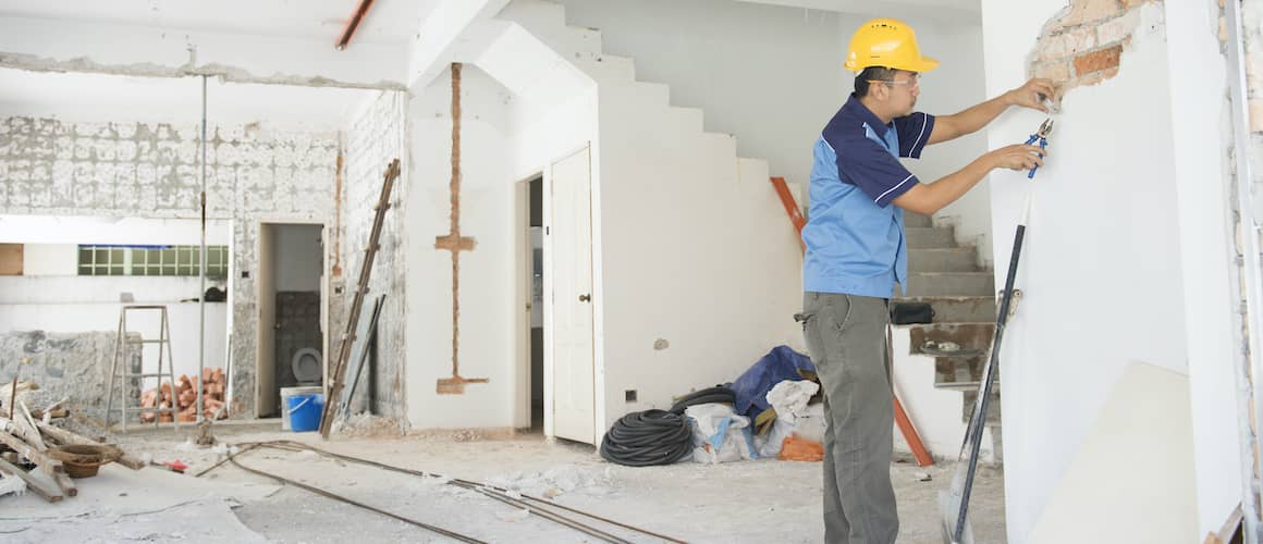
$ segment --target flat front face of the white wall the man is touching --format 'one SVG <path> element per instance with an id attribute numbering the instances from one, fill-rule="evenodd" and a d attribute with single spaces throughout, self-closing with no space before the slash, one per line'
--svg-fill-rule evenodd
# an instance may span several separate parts
<path id="1" fill-rule="evenodd" d="M 1026 58 L 1063 1 L 983 1 L 988 93 L 1021 85 Z M 1008 541 L 1027 541 L 1052 490 L 1132 361 L 1186 372 L 1183 278 L 1171 77 L 1161 8 L 1118 77 L 1066 96 L 1053 154 L 1028 182 L 991 175 L 997 288 L 1033 191 L 1017 287 L 1024 297 L 1000 355 Z M 1204 59 L 1210 61 L 1210 59 Z M 1215 101 L 1218 105 L 1218 101 Z M 1024 141 L 1041 114 L 999 120 L 991 146 Z M 1127 138 L 1143 127 L 1144 138 Z M 1138 452 L 1138 454 L 1143 454 Z"/>

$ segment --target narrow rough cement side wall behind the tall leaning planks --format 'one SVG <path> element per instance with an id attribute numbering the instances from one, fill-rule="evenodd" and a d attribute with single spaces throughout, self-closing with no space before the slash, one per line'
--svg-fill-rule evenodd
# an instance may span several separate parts
<path id="1" fill-rule="evenodd" d="M 383 173 L 394 159 L 400 159 L 400 178 L 395 180 L 390 196 L 390 210 L 386 211 L 381 228 L 380 250 L 374 257 L 373 274 L 362 312 L 373 309 L 371 300 L 385 294 L 385 305 L 378 322 L 376 375 L 374 385 L 376 399 L 371 411 L 386 418 L 400 430 L 408 428 L 407 405 L 404 399 L 407 337 L 405 316 L 407 297 L 404 297 L 405 234 L 403 218 L 408 212 L 403 203 L 408 193 L 407 150 L 407 95 L 395 91 L 383 91 L 369 107 L 351 122 L 347 133 L 346 177 L 344 182 L 346 206 L 342 210 L 346 228 L 342 237 L 342 275 L 346 288 L 344 302 L 346 310 L 351 304 L 355 281 L 364 263 L 364 250 L 368 246 L 373 228 L 374 207 L 381 196 Z M 338 321 L 345 327 L 346 318 Z M 338 329 L 341 331 L 341 329 Z M 338 334 L 340 336 L 340 334 Z M 332 343 L 332 342 L 331 342 Z M 333 346 L 331 346 L 332 348 Z M 335 351 L 336 352 L 336 351 Z M 368 390 L 361 381 L 360 390 Z M 356 395 L 359 398 L 359 393 Z M 359 410 L 356 410 L 359 408 Z M 360 411 L 362 404 L 352 405 L 352 411 Z"/>

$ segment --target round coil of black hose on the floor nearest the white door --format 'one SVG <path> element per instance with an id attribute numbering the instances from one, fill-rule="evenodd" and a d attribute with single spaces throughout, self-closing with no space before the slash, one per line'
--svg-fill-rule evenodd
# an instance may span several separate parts
<path id="1" fill-rule="evenodd" d="M 671 464 L 692 454 L 688 418 L 664 410 L 633 411 L 605 433 L 601 457 L 629 467 Z"/>

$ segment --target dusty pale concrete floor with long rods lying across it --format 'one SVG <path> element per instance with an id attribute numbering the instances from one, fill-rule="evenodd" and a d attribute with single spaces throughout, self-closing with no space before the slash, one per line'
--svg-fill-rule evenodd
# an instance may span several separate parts
<path id="1" fill-rule="evenodd" d="M 688 541 L 810 543 L 822 538 L 820 463 L 691 462 L 630 468 L 606 463 L 589 446 L 539 435 L 480 439 L 469 433 L 404 438 L 337 438 L 284 433 L 279 424 L 218 425 L 225 443 L 294 439 L 399 467 L 475 480 L 522 494 L 557 495 L 581 509 Z M 421 528 L 280 486 L 232 464 L 193 478 L 221 458 L 172 430 L 134 432 L 120 444 L 157 461 L 178 458 L 186 475 L 117 464 L 80 481 L 80 496 L 48 505 L 34 495 L 0 497 L 0 540 L 57 541 L 451 541 Z M 592 538 L 438 478 L 388 472 L 312 453 L 258 449 L 251 468 L 322 487 L 402 516 L 488 541 L 594 541 Z M 932 481 L 918 481 L 925 472 Z M 937 494 L 952 467 L 892 463 L 901 543 L 941 541 Z M 1004 541 L 1003 475 L 981 470 L 974 490 L 975 540 Z M 602 526 L 609 529 L 609 526 Z M 633 541 L 652 538 L 616 531 Z"/>

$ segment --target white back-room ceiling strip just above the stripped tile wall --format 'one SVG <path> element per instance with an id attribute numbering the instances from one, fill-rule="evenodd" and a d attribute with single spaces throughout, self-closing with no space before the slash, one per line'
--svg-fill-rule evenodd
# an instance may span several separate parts
<path id="1" fill-rule="evenodd" d="M 0 115 L 66 121 L 200 122 L 202 80 L 0 68 Z M 379 91 L 207 82 L 213 124 L 264 121 L 269 126 L 345 129 L 351 115 Z"/>

